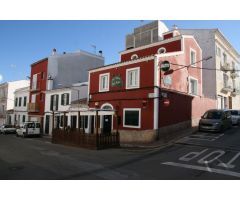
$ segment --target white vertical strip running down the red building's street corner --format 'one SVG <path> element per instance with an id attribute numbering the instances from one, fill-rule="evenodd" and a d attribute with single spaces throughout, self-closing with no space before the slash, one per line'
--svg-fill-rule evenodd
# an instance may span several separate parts
<path id="1" fill-rule="evenodd" d="M 159 115 L 159 66 L 158 57 L 154 57 L 154 112 L 153 112 L 153 129 L 157 131 L 157 139 L 159 139 L 158 134 L 158 115 Z"/>

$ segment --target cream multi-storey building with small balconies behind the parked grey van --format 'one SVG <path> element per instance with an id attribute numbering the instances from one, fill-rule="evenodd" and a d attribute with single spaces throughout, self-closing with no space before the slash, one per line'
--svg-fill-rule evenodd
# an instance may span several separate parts
<path id="1" fill-rule="evenodd" d="M 203 95 L 216 100 L 219 109 L 240 109 L 240 55 L 218 29 L 180 29 L 194 35 L 202 48 Z"/>

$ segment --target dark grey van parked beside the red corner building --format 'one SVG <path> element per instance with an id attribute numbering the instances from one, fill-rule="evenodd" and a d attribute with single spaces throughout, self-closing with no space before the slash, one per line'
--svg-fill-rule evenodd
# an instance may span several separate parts
<path id="1" fill-rule="evenodd" d="M 199 121 L 199 131 L 222 132 L 231 127 L 232 117 L 228 110 L 208 110 Z"/>

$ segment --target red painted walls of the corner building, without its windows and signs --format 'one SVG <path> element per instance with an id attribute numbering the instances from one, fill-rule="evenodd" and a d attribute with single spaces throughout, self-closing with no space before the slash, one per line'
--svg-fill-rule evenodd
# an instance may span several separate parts
<path id="1" fill-rule="evenodd" d="M 184 36 L 169 32 L 161 42 L 138 47 L 121 52 L 121 62 L 112 66 L 102 67 L 89 72 L 89 107 L 99 108 L 104 104 L 112 105 L 120 116 L 120 130 L 153 130 L 161 127 L 198 119 L 206 109 L 215 105 L 202 97 L 202 63 L 191 67 L 190 54 L 194 51 L 196 61 L 202 59 L 202 51 L 193 36 Z M 176 35 L 176 36 L 175 36 Z M 163 54 L 159 49 L 164 48 Z M 136 54 L 138 59 L 131 60 Z M 173 63 L 170 75 L 160 72 L 159 64 L 163 61 Z M 136 89 L 126 88 L 126 72 L 128 69 L 140 69 L 140 85 Z M 99 91 L 99 77 L 109 73 L 109 91 Z M 161 74 L 160 74 L 161 73 Z M 111 80 L 114 76 L 121 77 L 122 86 L 112 87 Z M 171 79 L 171 84 L 166 84 L 166 78 Z M 197 80 L 197 95 L 191 95 L 190 79 Z M 156 92 L 158 93 L 156 96 Z M 170 104 L 165 106 L 162 93 Z M 152 95 L 155 95 L 152 97 Z M 160 97 L 159 97 L 160 96 Z M 140 109 L 141 125 L 138 128 L 124 127 L 124 109 Z M 116 121 L 113 129 L 116 128 Z"/>

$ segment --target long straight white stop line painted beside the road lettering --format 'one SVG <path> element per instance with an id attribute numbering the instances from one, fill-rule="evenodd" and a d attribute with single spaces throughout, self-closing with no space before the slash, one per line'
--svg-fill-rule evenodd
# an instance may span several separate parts
<path id="1" fill-rule="evenodd" d="M 170 165 L 170 166 L 174 166 L 174 167 L 182 167 L 182 168 L 187 168 L 187 169 L 195 169 L 195 170 L 206 171 L 206 172 L 214 172 L 217 174 L 223 174 L 223 175 L 234 176 L 234 177 L 240 178 L 240 173 L 238 173 L 238 172 L 210 168 L 209 166 L 201 167 L 201 166 L 197 166 L 197 165 L 188 165 L 188 164 L 175 163 L 175 162 L 164 162 L 162 164 Z"/>

